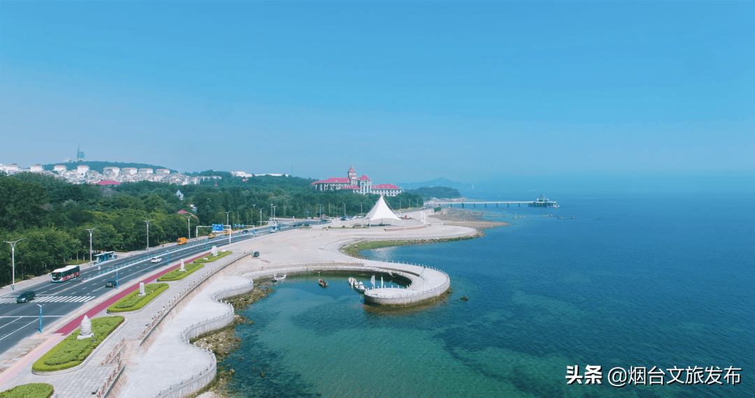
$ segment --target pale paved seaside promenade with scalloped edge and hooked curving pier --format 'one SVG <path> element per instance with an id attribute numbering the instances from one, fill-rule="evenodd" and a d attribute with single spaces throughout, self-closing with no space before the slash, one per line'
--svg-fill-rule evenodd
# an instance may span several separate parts
<path id="1" fill-rule="evenodd" d="M 418 214 L 414 217 L 419 218 Z M 234 243 L 227 246 L 233 255 L 218 260 L 218 264 L 205 265 L 184 280 L 170 282 L 170 288 L 143 310 L 125 314 L 126 322 L 86 363 L 60 374 L 33 374 L 32 363 L 63 338 L 51 335 L 9 369 L 11 377 L 0 373 L 0 391 L 19 384 L 49 383 L 59 398 L 189 396 L 214 378 L 216 368 L 214 355 L 188 344 L 188 338 L 232 323 L 233 308 L 218 300 L 251 291 L 252 280 L 273 273 L 354 271 L 398 274 L 411 281 L 406 289 L 369 290 L 365 303 L 374 305 L 405 305 L 445 292 L 450 284 L 448 276 L 431 265 L 354 259 L 339 250 L 356 240 L 425 240 L 476 234 L 472 228 L 428 221 L 431 225 L 406 220 L 402 226 L 369 229 L 318 225 Z M 359 220 L 341 224 L 356 222 Z M 259 258 L 251 256 L 254 251 L 260 252 Z M 102 311 L 95 317 L 105 315 Z"/>

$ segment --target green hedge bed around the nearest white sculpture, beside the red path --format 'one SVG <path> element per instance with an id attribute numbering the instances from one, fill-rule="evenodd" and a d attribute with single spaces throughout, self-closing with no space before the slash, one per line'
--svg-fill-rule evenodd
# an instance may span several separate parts
<path id="1" fill-rule="evenodd" d="M 94 351 L 94 348 L 97 348 L 113 330 L 123 323 L 123 319 L 120 315 L 116 315 L 115 317 L 100 317 L 91 320 L 94 336 L 79 340 L 76 338 L 79 335 L 79 329 L 75 329 L 63 341 L 52 347 L 47 354 L 42 355 L 42 358 L 39 358 L 32 365 L 32 370 L 35 372 L 54 372 L 80 365 Z"/>

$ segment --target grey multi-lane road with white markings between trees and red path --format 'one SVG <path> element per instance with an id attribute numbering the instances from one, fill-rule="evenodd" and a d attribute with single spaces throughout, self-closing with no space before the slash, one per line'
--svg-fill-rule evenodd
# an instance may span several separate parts
<path id="1" fill-rule="evenodd" d="M 278 233 L 292 228 L 291 226 L 281 228 L 281 231 Z M 267 235 L 267 232 L 260 233 L 260 230 L 257 230 L 257 238 L 266 237 Z M 254 238 L 252 234 L 234 234 L 231 243 L 252 238 Z M 221 235 L 220 237 L 208 240 L 207 243 L 207 245 L 186 246 L 183 249 L 180 246 L 169 247 L 168 249 L 171 250 L 170 265 L 177 265 L 175 259 L 206 253 L 212 246 L 227 246 L 228 237 Z M 153 256 L 162 257 L 162 262 L 156 264 L 149 262 L 149 259 L 152 259 Z M 167 259 L 168 256 L 165 254 L 165 249 L 154 247 L 150 248 L 149 253 L 125 256 L 120 259 L 112 259 L 100 263 L 101 271 L 112 270 L 112 272 L 97 277 L 95 277 L 95 274 L 100 272 L 97 269 L 97 265 L 90 267 L 88 264 L 84 264 L 81 265 L 78 279 L 61 283 L 52 283 L 51 280 L 45 280 L 34 286 L 26 287 L 23 290 L 17 289 L 11 294 L 0 297 L 0 354 L 8 351 L 8 349 L 23 338 L 39 332 L 39 307 L 35 303 L 44 305 L 43 327 L 47 329 L 48 326 L 53 325 L 57 320 L 78 314 L 85 305 L 100 301 L 103 295 L 109 293 L 109 289 L 114 289 L 105 287 L 105 283 L 108 280 L 116 279 L 116 271 L 114 269 L 116 266 L 124 265 L 134 260 L 141 260 L 119 268 L 119 286 L 128 286 L 128 283 L 139 280 L 145 274 L 167 267 Z M 82 278 L 85 279 L 83 283 Z M 35 300 L 17 304 L 16 298 L 21 293 L 30 290 L 36 293 L 37 297 Z M 60 327 L 60 325 L 56 325 L 56 327 Z"/>

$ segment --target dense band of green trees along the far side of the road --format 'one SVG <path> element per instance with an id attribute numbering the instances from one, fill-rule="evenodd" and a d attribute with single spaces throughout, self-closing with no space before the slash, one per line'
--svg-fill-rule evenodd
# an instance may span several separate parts
<path id="1" fill-rule="evenodd" d="M 0 176 L 0 242 L 26 238 L 16 246 L 16 278 L 20 280 L 88 259 L 87 228 L 97 227 L 91 234 L 95 251 L 127 252 L 146 248 L 145 220 L 152 220 L 149 246 L 159 246 L 179 237 L 196 237 L 199 225 L 227 221 L 260 225 L 273 211 L 276 218 L 316 219 L 321 213 L 338 217 L 344 215 L 345 204 L 347 215 L 366 213 L 380 197 L 314 191 L 313 181 L 291 176 L 244 181 L 223 173 L 223 179 L 200 185 L 141 181 L 109 187 L 75 185 L 36 173 Z M 178 190 L 183 201 L 176 196 Z M 386 201 L 394 210 L 423 205 L 418 194 L 399 194 Z M 210 228 L 199 228 L 200 236 L 209 232 Z M 10 282 L 11 245 L 2 243 L 0 285 Z"/>

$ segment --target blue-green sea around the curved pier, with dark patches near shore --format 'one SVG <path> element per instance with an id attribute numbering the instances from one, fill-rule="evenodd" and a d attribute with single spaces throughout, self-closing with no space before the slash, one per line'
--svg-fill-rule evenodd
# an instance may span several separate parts
<path id="1" fill-rule="evenodd" d="M 446 271 L 445 301 L 278 283 L 219 364 L 230 396 L 755 396 L 755 194 L 553 199 L 467 207 L 510 222 L 477 239 L 363 252 Z"/>

